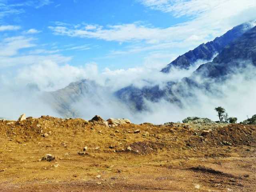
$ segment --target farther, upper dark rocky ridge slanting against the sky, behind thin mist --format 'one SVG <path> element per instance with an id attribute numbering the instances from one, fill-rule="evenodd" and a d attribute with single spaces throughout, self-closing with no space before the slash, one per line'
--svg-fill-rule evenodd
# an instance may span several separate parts
<path id="1" fill-rule="evenodd" d="M 161 72 L 168 73 L 170 72 L 171 67 L 188 69 L 197 60 L 210 60 L 214 54 L 220 53 L 225 46 L 240 37 L 244 32 L 250 30 L 252 27 L 252 23 L 238 25 L 226 32 L 224 35 L 215 38 L 213 41 L 207 42 L 206 44 L 203 43 L 194 50 L 190 50 L 182 56 L 179 56 L 176 60 L 163 68 Z"/>

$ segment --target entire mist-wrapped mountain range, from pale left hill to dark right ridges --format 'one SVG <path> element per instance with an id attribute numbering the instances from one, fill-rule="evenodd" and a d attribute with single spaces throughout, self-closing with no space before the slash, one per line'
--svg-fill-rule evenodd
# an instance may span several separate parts
<path id="1" fill-rule="evenodd" d="M 207 62 L 217 55 L 211 62 Z M 55 92 L 46 92 L 45 100 L 62 116 L 81 116 L 74 108 L 74 104 L 85 99 L 88 95 L 100 102 L 102 93 L 111 94 L 119 102 L 126 104 L 132 111 L 148 110 L 145 101 L 157 103 L 165 100 L 179 107 L 183 106 L 182 99 L 188 101 L 196 99 L 194 90 L 213 91 L 213 85 L 225 81 L 229 74 L 235 73 L 248 63 L 256 66 L 256 27 L 255 24 L 245 23 L 236 26 L 213 41 L 201 44 L 194 50 L 183 54 L 161 70 L 170 73 L 172 68 L 189 69 L 198 60 L 206 62 L 200 65 L 192 75 L 180 81 L 168 81 L 165 86 L 144 86 L 138 88 L 130 85 L 114 93 L 108 88 L 98 85 L 91 80 L 73 82 L 66 88 Z M 198 80 L 200 79 L 200 80 Z"/>

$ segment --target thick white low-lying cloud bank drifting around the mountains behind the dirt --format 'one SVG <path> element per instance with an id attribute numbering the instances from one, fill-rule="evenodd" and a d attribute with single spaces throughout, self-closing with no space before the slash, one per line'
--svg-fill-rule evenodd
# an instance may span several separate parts
<path id="1" fill-rule="evenodd" d="M 196 98 L 180 98 L 183 108 L 171 104 L 166 100 L 150 102 L 145 100 L 148 111 L 136 112 L 122 103 L 113 93 L 120 88 L 133 84 L 138 88 L 143 86 L 166 86 L 168 81 L 180 81 L 183 77 L 190 76 L 202 63 L 197 62 L 189 70 L 172 69 L 170 74 L 164 74 L 159 70 L 147 67 L 130 68 L 128 70 L 104 70 L 98 72 L 95 63 L 74 67 L 67 64 L 58 65 L 46 60 L 39 64 L 25 66 L 16 74 L 0 74 L 1 89 L 0 99 L 1 115 L 5 118 L 16 119 L 21 113 L 28 116 L 52 115 L 60 116 L 52 106 L 42 98 L 44 91 L 53 91 L 64 88 L 70 82 L 89 79 L 95 81 L 104 89 L 83 95 L 72 107 L 80 114 L 80 117 L 90 119 L 98 114 L 107 119 L 130 118 L 132 122 L 177 122 L 187 116 L 208 117 L 218 120 L 214 108 L 223 106 L 230 116 L 238 117 L 238 121 L 246 119 L 246 116 L 255 114 L 253 104 L 256 95 L 256 68 L 248 64 L 246 68 L 240 68 L 224 83 L 211 84 L 215 92 L 194 89 L 190 91 L 196 94 Z M 28 83 L 38 85 L 37 89 L 26 86 Z"/>

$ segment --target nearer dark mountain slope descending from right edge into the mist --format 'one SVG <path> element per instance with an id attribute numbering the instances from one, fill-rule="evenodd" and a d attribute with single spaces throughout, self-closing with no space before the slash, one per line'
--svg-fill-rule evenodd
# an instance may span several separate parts
<path id="1" fill-rule="evenodd" d="M 202 64 L 190 77 L 180 82 L 169 82 L 163 89 L 159 86 L 142 89 L 129 86 L 116 92 L 116 96 L 138 110 L 147 109 L 145 99 L 151 102 L 164 99 L 182 107 L 182 98 L 191 101 L 196 98 L 194 90 L 215 92 L 215 83 L 223 83 L 229 74 L 239 72 L 251 63 L 256 66 L 256 27 L 226 46 L 213 62 Z"/>

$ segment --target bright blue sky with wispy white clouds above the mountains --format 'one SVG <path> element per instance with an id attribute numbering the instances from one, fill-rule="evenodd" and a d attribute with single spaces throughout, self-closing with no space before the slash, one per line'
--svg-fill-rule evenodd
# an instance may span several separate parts
<path id="1" fill-rule="evenodd" d="M 101 73 L 159 71 L 255 11 L 252 0 L 0 0 L 1 81 L 60 88 Z"/>

